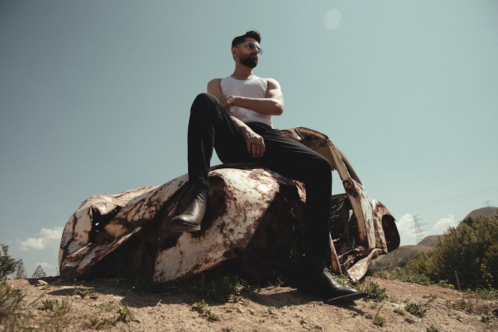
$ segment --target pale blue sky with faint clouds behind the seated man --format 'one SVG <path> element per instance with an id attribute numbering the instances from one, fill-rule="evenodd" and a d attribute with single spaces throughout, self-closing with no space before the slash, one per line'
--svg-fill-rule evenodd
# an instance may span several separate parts
<path id="1" fill-rule="evenodd" d="M 496 0 L 0 0 L 0 243 L 29 276 L 88 197 L 186 173 L 191 102 L 250 29 L 275 126 L 327 134 L 402 245 L 410 216 L 429 235 L 498 205 Z"/>

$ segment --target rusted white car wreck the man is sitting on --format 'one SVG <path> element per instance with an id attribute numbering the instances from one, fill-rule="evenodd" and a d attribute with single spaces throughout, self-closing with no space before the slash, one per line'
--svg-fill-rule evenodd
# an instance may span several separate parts
<path id="1" fill-rule="evenodd" d="M 369 198 L 345 155 L 322 133 L 296 127 L 282 133 L 326 157 L 345 193 L 331 196 L 329 264 L 358 281 L 370 261 L 399 246 L 394 218 Z M 249 164 L 224 164 L 209 173 L 201 230 L 171 232 L 169 221 L 187 175 L 84 201 L 67 222 L 59 266 L 64 280 L 117 275 L 123 270 L 156 282 L 188 278 L 238 257 L 255 277 L 278 276 L 300 254 L 306 191 L 302 183 Z"/>

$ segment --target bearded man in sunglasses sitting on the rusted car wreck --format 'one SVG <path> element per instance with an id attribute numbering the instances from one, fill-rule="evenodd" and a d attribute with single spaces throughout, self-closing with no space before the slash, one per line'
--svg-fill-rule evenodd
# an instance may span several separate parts
<path id="1" fill-rule="evenodd" d="M 256 162 L 306 185 L 305 267 L 302 289 L 327 303 L 352 301 L 366 293 L 342 287 L 330 276 L 324 258 L 329 248 L 332 173 L 329 161 L 273 128 L 284 101 L 280 85 L 252 73 L 262 50 L 257 31 L 232 41 L 234 73 L 208 83 L 207 94 L 194 100 L 188 126 L 188 207 L 172 219 L 172 231 L 201 229 L 209 189 L 213 148 L 223 163 Z"/>

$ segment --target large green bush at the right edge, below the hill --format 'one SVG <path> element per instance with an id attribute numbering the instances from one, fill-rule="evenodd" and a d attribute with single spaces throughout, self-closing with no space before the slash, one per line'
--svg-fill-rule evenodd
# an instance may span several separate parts
<path id="1" fill-rule="evenodd" d="M 462 288 L 498 288 L 498 216 L 468 218 L 445 234 L 431 251 L 410 260 L 407 271 L 457 285 L 456 271 Z"/>

